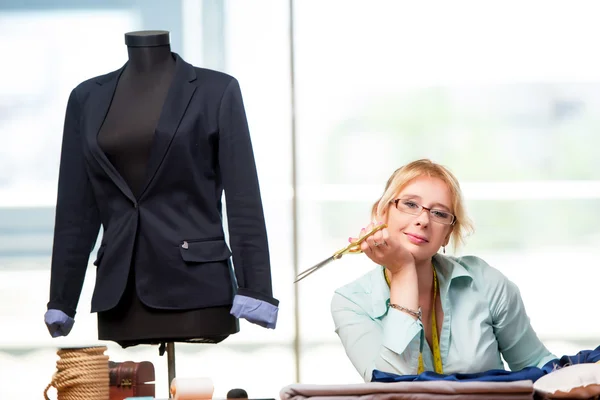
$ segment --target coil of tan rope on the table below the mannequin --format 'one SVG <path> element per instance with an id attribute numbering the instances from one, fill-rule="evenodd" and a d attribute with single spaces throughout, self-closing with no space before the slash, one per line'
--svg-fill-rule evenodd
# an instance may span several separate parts
<path id="1" fill-rule="evenodd" d="M 108 400 L 109 376 L 106 346 L 64 348 L 58 350 L 57 371 L 44 390 L 54 387 L 58 400 Z"/>

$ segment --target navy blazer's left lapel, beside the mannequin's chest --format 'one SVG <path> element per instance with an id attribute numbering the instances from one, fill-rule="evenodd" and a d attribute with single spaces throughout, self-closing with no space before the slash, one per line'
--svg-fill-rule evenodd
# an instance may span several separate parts
<path id="1" fill-rule="evenodd" d="M 121 192 L 123 192 L 123 194 L 131 201 L 135 202 L 135 196 L 129 188 L 129 185 L 127 185 L 121 174 L 119 174 L 117 169 L 114 167 L 114 165 L 112 165 L 112 163 L 106 157 L 106 154 L 104 154 L 98 145 L 98 132 L 100 132 L 102 123 L 108 114 L 108 109 L 112 103 L 112 99 L 117 88 L 117 82 L 119 81 L 119 77 L 121 76 L 121 73 L 123 73 L 126 65 L 127 64 L 125 64 L 121 69 L 108 75 L 99 77 L 96 80 L 98 89 L 94 91 L 89 99 L 89 125 L 87 126 L 86 137 L 90 151 L 102 169 L 104 169 L 106 174 L 112 179 Z"/>

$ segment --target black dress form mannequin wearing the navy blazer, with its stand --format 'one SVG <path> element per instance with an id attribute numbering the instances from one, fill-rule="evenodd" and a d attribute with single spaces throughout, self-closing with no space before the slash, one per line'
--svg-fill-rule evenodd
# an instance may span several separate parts
<path id="1" fill-rule="evenodd" d="M 44 321 L 69 334 L 102 227 L 98 337 L 167 344 L 171 382 L 174 342 L 218 343 L 238 318 L 275 329 L 279 301 L 239 82 L 185 62 L 168 32 L 126 44 L 128 62 L 67 103 Z"/>

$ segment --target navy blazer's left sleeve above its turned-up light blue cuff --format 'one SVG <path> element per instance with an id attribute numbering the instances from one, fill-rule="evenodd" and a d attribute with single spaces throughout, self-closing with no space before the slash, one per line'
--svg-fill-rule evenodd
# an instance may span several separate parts
<path id="1" fill-rule="evenodd" d="M 75 90 L 67 103 L 54 222 L 48 309 L 73 318 L 90 253 L 100 230 L 100 214 L 88 178 Z"/>

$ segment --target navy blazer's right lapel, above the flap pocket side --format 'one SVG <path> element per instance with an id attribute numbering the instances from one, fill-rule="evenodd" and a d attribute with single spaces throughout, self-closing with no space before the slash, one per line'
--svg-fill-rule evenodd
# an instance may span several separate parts
<path id="1" fill-rule="evenodd" d="M 173 81 L 167 93 L 167 98 L 154 134 L 154 141 L 147 165 L 146 183 L 142 188 L 140 198 L 148 190 L 152 180 L 156 176 L 177 132 L 179 123 L 185 115 L 192 95 L 196 91 L 196 85 L 191 83 L 196 80 L 194 67 L 185 62 L 178 54 L 173 54 L 175 54 L 176 59 L 175 75 L 173 76 Z"/>

